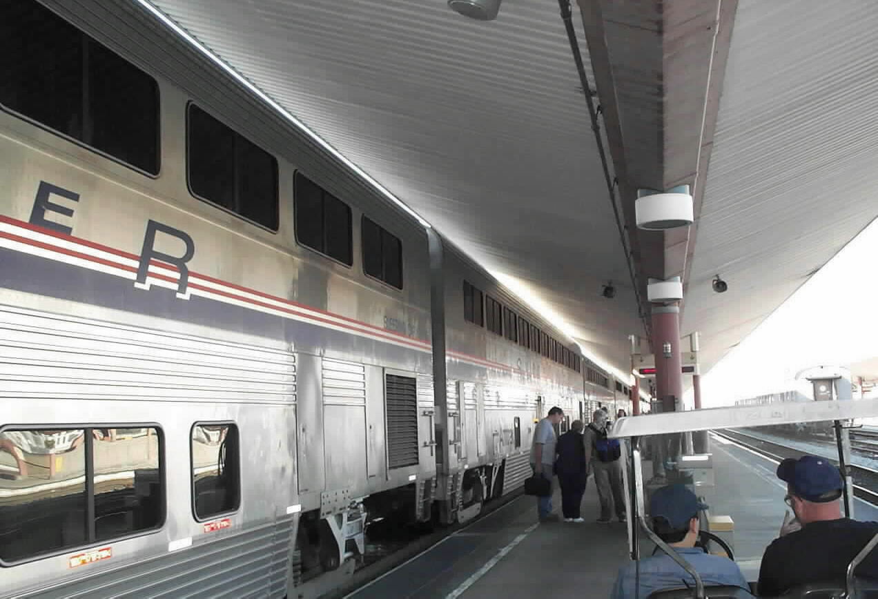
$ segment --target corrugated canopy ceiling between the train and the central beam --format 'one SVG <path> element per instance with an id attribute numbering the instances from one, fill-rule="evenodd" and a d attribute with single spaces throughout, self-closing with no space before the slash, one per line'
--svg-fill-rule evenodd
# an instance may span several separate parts
<path id="1" fill-rule="evenodd" d="M 154 4 L 627 370 L 642 329 L 558 4 L 490 23 L 443 0 Z"/>

